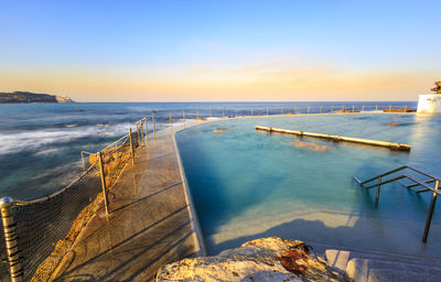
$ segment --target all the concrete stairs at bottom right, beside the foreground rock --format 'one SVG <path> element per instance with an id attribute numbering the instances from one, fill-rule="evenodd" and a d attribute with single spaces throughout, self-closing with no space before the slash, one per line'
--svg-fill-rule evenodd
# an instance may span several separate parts
<path id="1" fill-rule="evenodd" d="M 326 249 L 327 264 L 354 282 L 441 281 L 441 260 L 387 252 Z"/>

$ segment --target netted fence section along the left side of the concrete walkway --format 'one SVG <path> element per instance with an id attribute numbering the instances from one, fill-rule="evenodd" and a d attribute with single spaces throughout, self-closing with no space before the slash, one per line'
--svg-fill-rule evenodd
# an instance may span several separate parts
<path id="1" fill-rule="evenodd" d="M 135 150 L 148 140 L 147 118 L 136 130 L 97 153 L 82 152 L 84 172 L 68 186 L 32 202 L 0 200 L 2 230 L 0 248 L 3 278 L 11 281 L 43 281 L 72 246 L 83 226 L 104 203 Z M 100 200 L 101 199 L 101 200 Z"/>

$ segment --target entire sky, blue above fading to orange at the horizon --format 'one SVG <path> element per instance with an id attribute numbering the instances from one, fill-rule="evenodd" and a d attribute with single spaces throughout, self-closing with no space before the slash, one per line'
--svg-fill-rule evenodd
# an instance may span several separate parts
<path id="1" fill-rule="evenodd" d="M 417 100 L 441 1 L 0 0 L 0 91 L 77 101 Z"/>

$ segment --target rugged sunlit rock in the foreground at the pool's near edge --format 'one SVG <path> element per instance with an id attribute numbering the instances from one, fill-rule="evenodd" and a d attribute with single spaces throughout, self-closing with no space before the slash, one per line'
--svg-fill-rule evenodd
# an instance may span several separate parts
<path id="1" fill-rule="evenodd" d="M 248 241 L 214 257 L 170 263 L 159 270 L 163 281 L 349 281 L 344 272 L 326 265 L 310 247 L 298 240 L 270 237 Z"/>

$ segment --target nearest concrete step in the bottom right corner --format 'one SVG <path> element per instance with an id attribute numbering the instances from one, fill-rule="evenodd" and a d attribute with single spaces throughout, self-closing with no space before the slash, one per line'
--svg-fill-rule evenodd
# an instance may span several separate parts
<path id="1" fill-rule="evenodd" d="M 430 262 L 428 260 L 428 262 Z M 433 267 L 430 263 L 420 264 L 373 260 L 373 259 L 351 259 L 346 265 L 346 273 L 354 282 L 367 281 L 402 281 L 400 276 L 406 274 L 418 276 L 423 281 L 441 281 L 441 268 Z M 412 280 L 405 280 L 412 281 Z"/>

